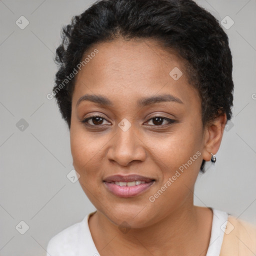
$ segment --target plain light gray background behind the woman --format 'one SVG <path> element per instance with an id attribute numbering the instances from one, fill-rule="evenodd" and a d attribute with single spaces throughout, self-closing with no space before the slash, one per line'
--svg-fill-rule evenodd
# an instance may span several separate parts
<path id="1" fill-rule="evenodd" d="M 56 72 L 60 29 L 92 2 L 0 0 L 1 256 L 45 255 L 54 234 L 94 210 L 78 181 L 66 177 L 73 169 L 68 128 L 55 100 L 46 98 Z M 226 15 L 234 20 L 224 30 L 235 90 L 232 123 L 225 128 L 215 166 L 208 163 L 198 176 L 195 204 L 256 224 L 256 1 L 197 2 L 219 21 Z M 15 24 L 21 15 L 29 21 L 24 29 Z M 28 123 L 23 130 L 16 126 L 21 118 Z M 15 228 L 21 220 L 29 226 L 24 234 Z"/>

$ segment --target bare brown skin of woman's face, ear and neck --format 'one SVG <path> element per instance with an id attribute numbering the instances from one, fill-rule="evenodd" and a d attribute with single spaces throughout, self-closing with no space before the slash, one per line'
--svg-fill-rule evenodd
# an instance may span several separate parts
<path id="1" fill-rule="evenodd" d="M 202 126 L 200 97 L 188 83 L 183 60 L 157 42 L 115 39 L 94 45 L 87 54 L 94 48 L 99 52 L 75 77 L 70 145 L 80 185 L 97 209 L 88 221 L 97 250 L 101 256 L 206 255 L 212 211 L 193 205 L 193 190 L 202 159 L 209 161 L 220 146 L 226 115 Z M 183 72 L 178 80 L 169 75 L 174 67 Z M 136 104 L 164 93 L 183 103 Z M 86 100 L 76 107 L 84 94 L 103 95 L 113 105 Z M 94 114 L 104 119 L 88 120 L 94 126 L 81 122 Z M 151 119 L 155 115 L 175 122 L 157 124 Z M 118 127 L 123 118 L 131 124 L 127 131 Z M 197 151 L 198 158 L 150 202 L 149 196 Z M 129 198 L 112 194 L 102 182 L 110 175 L 133 173 L 155 182 Z"/>

